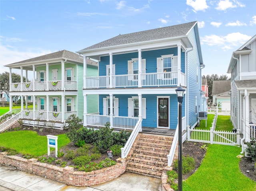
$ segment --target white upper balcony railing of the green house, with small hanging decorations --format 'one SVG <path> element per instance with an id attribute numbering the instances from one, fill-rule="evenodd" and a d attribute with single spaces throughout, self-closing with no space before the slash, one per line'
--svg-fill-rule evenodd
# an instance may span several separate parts
<path id="1" fill-rule="evenodd" d="M 33 87 L 35 86 L 35 87 Z M 22 87 L 22 89 L 21 89 Z M 64 81 L 65 90 L 77 90 L 76 81 Z M 10 91 L 52 91 L 62 90 L 62 81 L 42 81 L 42 82 L 26 82 L 26 83 L 11 83 Z"/>

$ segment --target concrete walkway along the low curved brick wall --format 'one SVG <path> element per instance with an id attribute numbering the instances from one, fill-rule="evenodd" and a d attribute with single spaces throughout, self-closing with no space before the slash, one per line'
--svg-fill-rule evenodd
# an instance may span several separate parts
<path id="1" fill-rule="evenodd" d="M 161 179 L 124 173 L 113 181 L 90 186 L 68 186 L 0 165 L 0 191 L 161 191 Z"/>

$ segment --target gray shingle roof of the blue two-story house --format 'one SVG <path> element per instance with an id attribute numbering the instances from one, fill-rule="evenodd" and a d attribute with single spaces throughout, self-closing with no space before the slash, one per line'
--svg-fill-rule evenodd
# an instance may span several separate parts
<path id="1" fill-rule="evenodd" d="M 110 47 L 115 45 L 184 36 L 187 35 L 187 33 L 194 26 L 194 24 L 196 24 L 196 21 L 141 32 L 118 35 L 116 37 L 110 38 L 108 40 L 102 41 L 85 49 L 82 49 L 78 52 L 83 52 L 86 50 L 97 49 L 102 47 Z"/>

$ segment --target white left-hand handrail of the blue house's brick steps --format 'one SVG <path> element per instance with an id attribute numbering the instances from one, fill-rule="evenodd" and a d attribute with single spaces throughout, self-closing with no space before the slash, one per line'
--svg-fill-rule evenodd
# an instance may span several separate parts
<path id="1" fill-rule="evenodd" d="M 131 133 L 130 137 L 128 138 L 125 146 L 123 148 L 121 148 L 121 158 L 126 158 L 128 153 L 130 152 L 138 133 L 140 131 L 142 131 L 141 123 L 142 123 L 142 119 L 139 119 L 136 126 L 132 130 L 132 133 Z"/>

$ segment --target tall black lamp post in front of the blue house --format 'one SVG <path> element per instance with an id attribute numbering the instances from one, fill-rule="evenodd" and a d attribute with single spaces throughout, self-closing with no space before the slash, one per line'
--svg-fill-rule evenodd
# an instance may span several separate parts
<path id="1" fill-rule="evenodd" d="M 179 116 L 178 116 L 178 123 L 179 123 L 179 131 L 178 131 L 178 191 L 182 191 L 182 101 L 183 101 L 183 94 L 186 91 L 181 86 L 178 87 L 176 90 L 177 98 L 179 102 Z"/>

